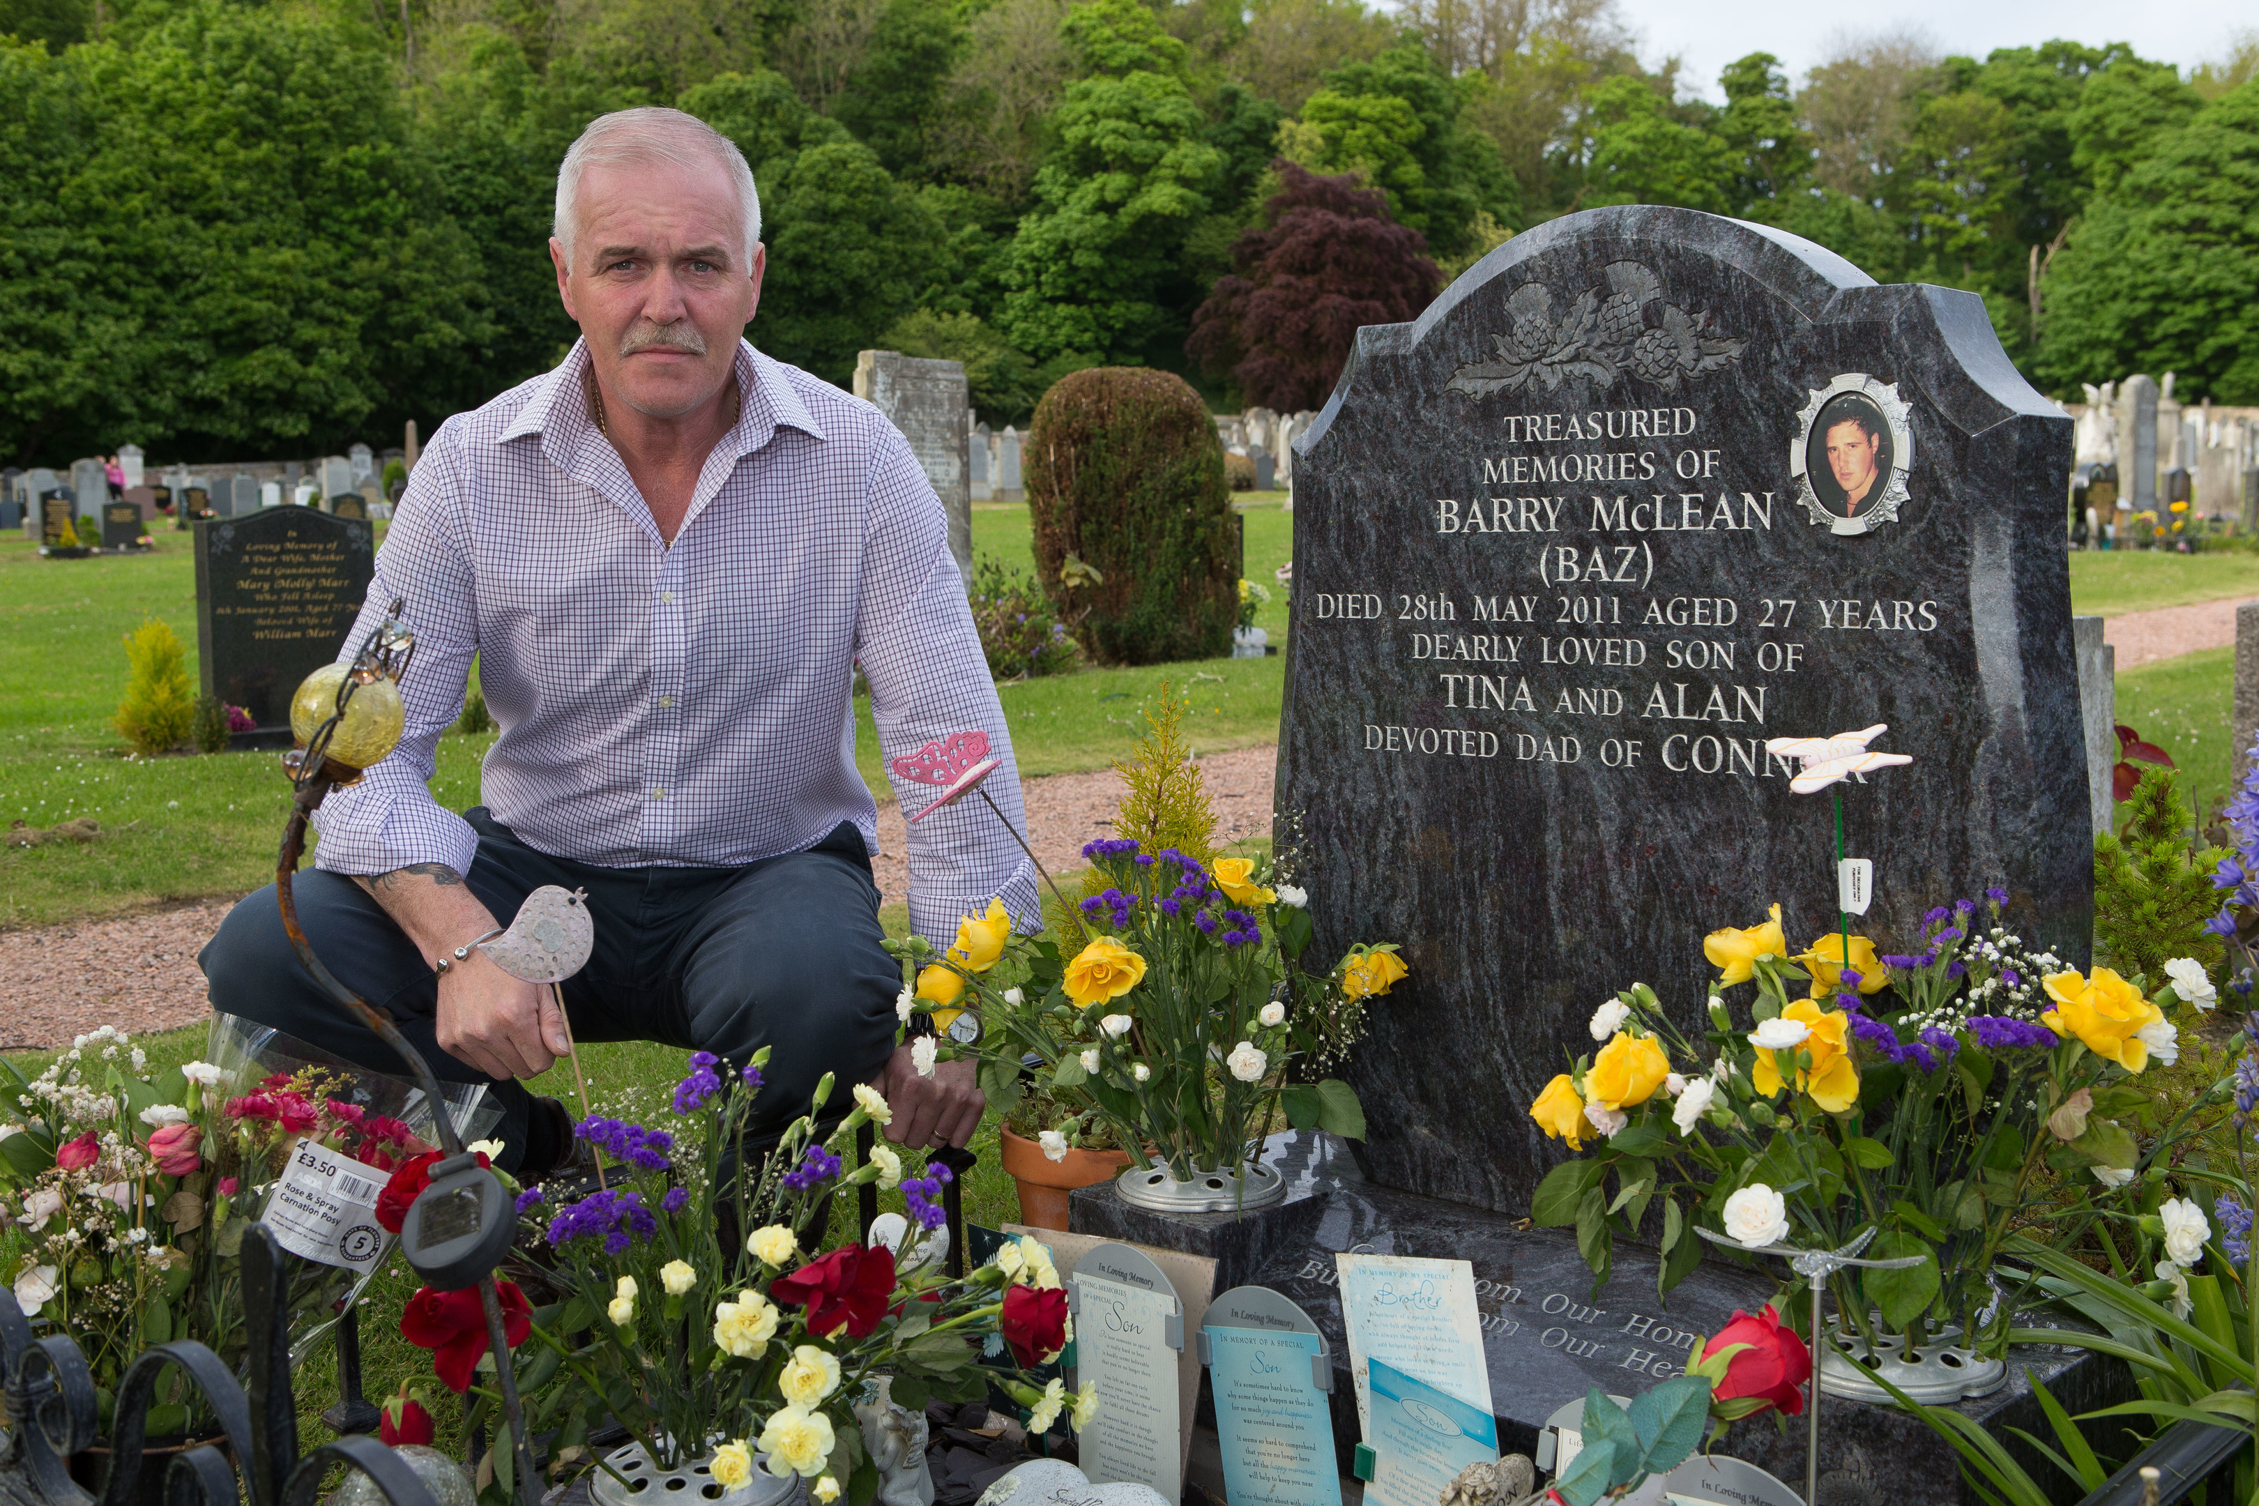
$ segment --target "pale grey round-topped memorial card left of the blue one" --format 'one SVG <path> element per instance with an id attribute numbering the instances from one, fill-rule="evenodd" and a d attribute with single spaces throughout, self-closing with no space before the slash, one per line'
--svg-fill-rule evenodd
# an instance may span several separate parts
<path id="1" fill-rule="evenodd" d="M 1181 1495 L 1177 1348 L 1168 1343 L 1177 1294 L 1075 1271 L 1075 1384 L 1098 1382 L 1098 1420 L 1082 1431 L 1082 1472 L 1093 1483 L 1136 1481 L 1163 1499 Z M 1181 1343 L 1181 1334 L 1179 1334 Z"/>

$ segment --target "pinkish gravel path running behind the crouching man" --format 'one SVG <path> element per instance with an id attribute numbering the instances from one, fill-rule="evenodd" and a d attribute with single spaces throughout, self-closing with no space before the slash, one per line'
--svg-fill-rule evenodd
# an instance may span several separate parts
<path id="1" fill-rule="evenodd" d="M 1222 840 L 1270 831 L 1276 756 L 1276 747 L 1245 747 L 1200 761 Z M 1084 842 L 1105 835 L 1120 779 L 1111 770 L 1053 774 L 1023 781 L 1021 793 L 1037 856 L 1064 874 L 1082 865 Z M 897 903 L 908 896 L 908 863 L 901 811 L 892 804 L 879 808 L 879 892 Z M 129 1034 L 194 1025 L 206 1012 L 197 951 L 230 903 L 0 933 L 0 1050 L 66 1045 L 95 1025 Z"/>

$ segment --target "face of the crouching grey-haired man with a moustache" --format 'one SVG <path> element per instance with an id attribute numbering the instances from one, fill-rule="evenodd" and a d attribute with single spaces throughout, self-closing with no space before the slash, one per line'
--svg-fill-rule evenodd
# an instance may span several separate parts
<path id="1" fill-rule="evenodd" d="M 680 418 L 721 391 L 761 300 L 768 253 L 745 266 L 736 190 L 718 165 L 592 165 L 581 176 L 572 257 L 556 239 L 565 312 L 605 391 Z"/>

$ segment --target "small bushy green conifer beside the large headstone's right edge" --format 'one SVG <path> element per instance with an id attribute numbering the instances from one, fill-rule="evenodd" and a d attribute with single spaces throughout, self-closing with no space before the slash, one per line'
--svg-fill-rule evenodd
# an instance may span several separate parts
<path id="1" fill-rule="evenodd" d="M 2221 964 L 2205 921 L 2221 908 L 2212 874 L 2227 849 L 2191 851 L 2193 829 L 2180 770 L 2144 765 L 2119 831 L 2094 833 L 2094 942 L 2121 975 L 2146 973 L 2151 987 L 2173 957 Z"/>

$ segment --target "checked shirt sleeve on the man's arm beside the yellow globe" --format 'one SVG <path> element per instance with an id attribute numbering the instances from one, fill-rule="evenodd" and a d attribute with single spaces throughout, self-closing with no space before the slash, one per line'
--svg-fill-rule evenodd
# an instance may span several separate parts
<path id="1" fill-rule="evenodd" d="M 456 537 L 463 528 L 461 456 L 454 420 L 431 436 L 384 549 L 361 616 L 339 650 L 350 659 L 398 598 L 416 634 L 416 657 L 400 680 L 407 729 L 400 747 L 361 781 L 334 790 L 314 815 L 321 844 L 314 867 L 332 874 L 391 874 L 411 863 L 445 863 L 470 872 L 479 838 L 454 811 L 431 799 L 438 738 L 463 713 L 470 659 L 479 650 L 477 583 Z"/>

